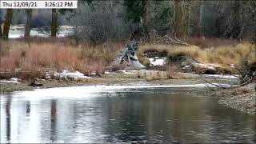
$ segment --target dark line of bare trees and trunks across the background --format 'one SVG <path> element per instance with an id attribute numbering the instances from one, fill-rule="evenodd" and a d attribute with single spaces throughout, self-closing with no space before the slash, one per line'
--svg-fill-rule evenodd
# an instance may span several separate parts
<path id="1" fill-rule="evenodd" d="M 51 36 L 56 37 L 58 26 L 72 25 L 79 38 L 94 42 L 108 38 L 143 38 L 171 34 L 177 38 L 255 38 L 255 1 L 202 0 L 79 0 L 77 10 L 52 10 Z M 7 38 L 14 10 L 6 10 L 3 37 Z M 32 10 L 26 10 L 25 38 L 29 38 Z M 15 16 L 15 15 L 14 15 Z M 59 19 L 66 22 L 58 22 Z M 105 26 L 103 26 L 105 25 Z M 79 30 L 78 30 L 79 29 Z M 126 33 L 126 34 L 123 34 Z"/>

